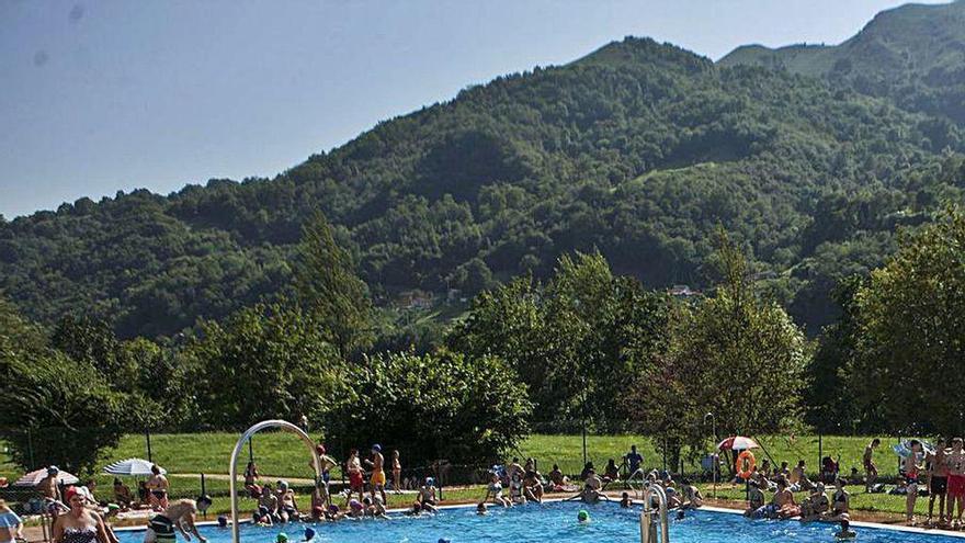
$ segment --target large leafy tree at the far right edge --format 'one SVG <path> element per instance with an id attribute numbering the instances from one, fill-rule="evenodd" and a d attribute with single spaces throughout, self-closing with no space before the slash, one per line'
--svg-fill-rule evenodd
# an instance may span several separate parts
<path id="1" fill-rule="evenodd" d="M 965 432 L 965 215 L 950 210 L 906 237 L 858 291 L 849 384 L 867 429 Z M 922 394 L 919 386 L 926 386 Z"/>

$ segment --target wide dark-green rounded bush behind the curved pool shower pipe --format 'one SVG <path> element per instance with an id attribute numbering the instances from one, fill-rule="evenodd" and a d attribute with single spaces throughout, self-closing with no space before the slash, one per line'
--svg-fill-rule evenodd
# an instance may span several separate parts
<path id="1" fill-rule="evenodd" d="M 326 418 L 329 443 L 343 456 L 377 442 L 405 451 L 410 465 L 487 464 L 529 433 L 525 386 L 497 357 L 388 353 L 344 375 L 351 393 L 334 397 Z"/>

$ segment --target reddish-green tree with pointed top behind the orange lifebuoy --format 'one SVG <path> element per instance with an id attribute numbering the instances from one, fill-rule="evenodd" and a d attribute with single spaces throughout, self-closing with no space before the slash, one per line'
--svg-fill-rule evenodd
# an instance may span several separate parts
<path id="1" fill-rule="evenodd" d="M 657 371 L 680 380 L 678 401 L 714 412 L 723 433 L 784 430 L 799 423 L 804 333 L 758 296 L 740 250 L 723 233 L 718 240 L 723 282 L 706 299 L 680 307 L 665 359 L 672 367 Z"/>

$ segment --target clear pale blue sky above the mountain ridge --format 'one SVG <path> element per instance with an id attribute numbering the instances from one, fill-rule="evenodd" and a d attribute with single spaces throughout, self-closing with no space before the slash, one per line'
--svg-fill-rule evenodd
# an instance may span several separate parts
<path id="1" fill-rule="evenodd" d="M 840 43 L 887 0 L 0 0 L 0 214 L 271 177 L 459 89 L 626 35 Z"/>

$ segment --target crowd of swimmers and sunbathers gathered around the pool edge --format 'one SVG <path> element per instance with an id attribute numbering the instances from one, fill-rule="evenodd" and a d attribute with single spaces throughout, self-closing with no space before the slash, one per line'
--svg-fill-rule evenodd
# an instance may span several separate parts
<path id="1" fill-rule="evenodd" d="M 939 440 L 934 446 L 918 440 L 906 442 L 907 454 L 902 455 L 898 486 L 892 493 L 905 494 L 907 520 L 916 523 L 915 507 L 919 495 L 929 496 L 929 525 L 963 528 L 965 512 L 965 450 L 963 440 L 955 438 L 947 442 Z M 865 471 L 864 486 L 867 493 L 883 491 L 884 485 L 877 483 L 878 470 L 874 461 L 875 450 L 881 440 L 872 440 L 865 448 L 862 459 Z M 387 490 L 413 495 L 406 514 L 420 516 L 434 513 L 438 508 L 439 489 L 434 477 L 404 479 L 400 454 L 391 451 L 389 459 L 383 455 L 382 446 L 374 444 L 366 455 L 352 449 L 341 465 L 327 454 L 323 445 L 317 445 L 321 477 L 315 485 L 310 505 L 303 510 L 291 485 L 283 479 L 262 483 L 258 465 L 249 462 L 245 471 L 245 488 L 257 500 L 252 514 L 253 522 L 263 525 L 291 521 L 340 521 L 343 519 L 388 518 Z M 899 454 L 901 454 L 899 452 Z M 826 459 L 826 461 L 829 459 Z M 313 466 L 314 466 L 313 460 Z M 802 522 L 824 521 L 840 523 L 840 535 L 853 535 L 850 529 L 851 495 L 845 488 L 849 484 L 839 473 L 837 463 L 822 465 L 821 480 L 808 478 L 806 464 L 799 461 L 794 467 L 787 462 L 772 468 L 768 460 L 760 466 L 751 466 L 747 477 L 747 508 L 745 514 L 751 519 L 798 519 Z M 558 465 L 544 476 L 534 459 L 521 463 L 513 457 L 506 465 L 493 466 L 487 473 L 485 494 L 477 502 L 477 511 L 486 514 L 491 506 L 514 507 L 531 502 L 542 504 L 549 493 L 569 494 L 566 500 L 597 504 L 611 500 L 606 488 L 611 484 L 631 486 L 636 482 L 640 488 L 659 486 L 666 495 L 669 510 L 684 514 L 688 509 L 703 505 L 700 489 L 686 478 L 676 482 L 670 473 L 646 471 L 644 457 L 632 446 L 622 457 L 622 463 L 609 460 L 602 474 L 588 462 L 578 479 L 570 480 Z M 344 489 L 333 496 L 330 491 L 330 472 L 341 466 L 347 478 Z M 147 508 L 155 512 L 150 518 L 145 543 L 174 543 L 180 532 L 190 541 L 192 536 L 204 543 L 197 532 L 195 516 L 211 506 L 211 498 L 197 500 L 169 500 L 169 482 L 158 466 L 152 466 L 150 477 L 141 482 L 135 497 L 130 488 L 120 478 L 114 479 L 114 502 L 98 504 L 93 498 L 94 482 L 84 486 L 70 486 L 64 489 L 57 484 L 59 471 L 50 466 L 47 476 L 37 485 L 47 509 L 54 518 L 53 534 L 55 543 L 117 543 L 107 519 L 118 510 Z M 390 474 L 390 479 L 387 477 Z M 852 470 L 851 484 L 860 484 L 856 470 Z M 827 486 L 826 486 L 827 485 Z M 622 486 L 625 487 L 625 486 Z M 803 496 L 802 496 L 803 495 Z M 341 498 L 341 499 L 339 499 Z M 622 493 L 621 507 L 634 507 L 634 500 L 626 491 Z M 935 506 L 938 521 L 933 523 Z M 219 518 L 226 523 L 226 519 Z M 0 500 L 0 541 L 13 542 L 22 538 L 23 523 L 20 518 Z"/>

